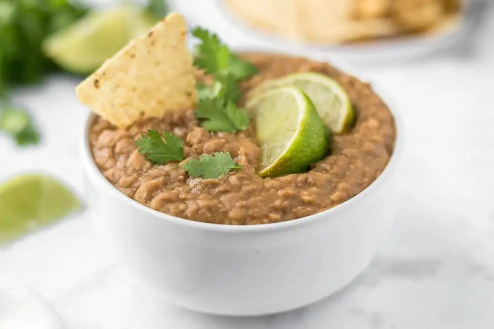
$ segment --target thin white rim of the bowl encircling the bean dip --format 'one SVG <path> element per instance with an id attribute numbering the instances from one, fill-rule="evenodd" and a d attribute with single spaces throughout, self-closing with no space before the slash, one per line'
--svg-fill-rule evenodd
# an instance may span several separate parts
<path id="1" fill-rule="evenodd" d="M 234 48 L 234 50 L 235 52 L 243 52 L 243 53 L 285 54 L 288 56 L 299 56 L 299 55 L 287 54 L 285 52 L 276 52 L 276 51 L 259 49 L 259 48 L 253 48 L 253 49 Z M 306 57 L 312 60 L 316 60 L 316 61 L 318 60 L 313 56 L 306 56 Z M 355 77 L 359 78 L 361 81 L 369 82 L 369 79 L 360 78 L 362 74 L 360 75 L 355 74 L 356 72 L 355 70 L 351 69 L 351 67 L 349 67 L 348 65 L 339 62 L 338 60 L 331 61 L 330 64 L 331 66 L 334 66 L 345 73 L 354 75 Z M 398 110 L 397 104 L 392 100 L 392 98 L 388 96 L 385 88 L 382 88 L 381 86 L 379 86 L 378 83 L 374 83 L 374 82 L 372 82 L 371 85 L 372 85 L 372 91 L 377 96 L 379 96 L 379 98 L 384 102 L 384 104 L 388 106 L 395 121 L 396 140 L 395 140 L 395 147 L 393 149 L 393 154 L 391 154 L 391 157 L 388 163 L 386 164 L 386 167 L 384 167 L 382 173 L 369 186 L 367 186 L 360 193 L 346 200 L 345 202 L 333 208 L 322 211 L 320 213 L 316 213 L 298 219 L 267 223 L 267 224 L 229 225 L 229 224 L 201 222 L 191 219 L 183 219 L 146 207 L 138 203 L 134 199 L 127 197 L 124 193 L 119 191 L 112 183 L 110 183 L 103 176 L 99 168 L 96 166 L 96 163 L 94 162 L 89 146 L 89 130 L 93 120 L 96 118 L 96 114 L 94 114 L 93 112 L 89 112 L 84 123 L 84 130 L 81 141 L 83 170 L 85 174 L 91 174 L 91 177 L 96 177 L 98 179 L 97 182 L 99 183 L 98 187 L 100 190 L 103 191 L 103 193 L 111 194 L 115 196 L 116 198 L 122 200 L 123 202 L 128 203 L 130 206 L 139 209 L 140 211 L 143 211 L 144 213 L 148 214 L 150 217 L 156 220 L 165 220 L 170 224 L 184 226 L 192 229 L 198 229 L 203 231 L 231 232 L 231 233 L 268 232 L 268 231 L 281 231 L 281 230 L 293 229 L 299 226 L 312 224 L 318 220 L 330 220 L 327 218 L 328 216 L 332 217 L 332 219 L 336 219 L 338 217 L 337 216 L 338 213 L 343 212 L 345 209 L 349 207 L 355 207 L 359 202 L 361 202 L 361 200 L 365 199 L 370 193 L 373 193 L 375 189 L 379 188 L 380 185 L 385 183 L 387 180 L 391 179 L 391 174 L 395 170 L 399 160 L 402 157 L 402 152 L 404 147 L 404 131 L 403 131 L 403 122 L 401 119 L 400 110 Z"/>

